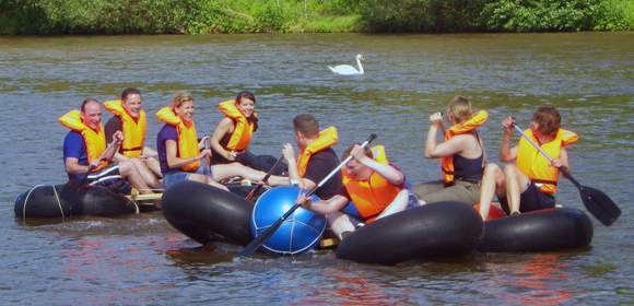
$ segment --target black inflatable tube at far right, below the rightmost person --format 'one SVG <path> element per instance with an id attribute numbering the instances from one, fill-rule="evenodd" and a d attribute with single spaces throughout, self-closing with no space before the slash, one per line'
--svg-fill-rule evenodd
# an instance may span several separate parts
<path id="1" fill-rule="evenodd" d="M 590 219 L 572 208 L 540 210 L 484 222 L 479 251 L 551 251 L 590 245 Z"/>

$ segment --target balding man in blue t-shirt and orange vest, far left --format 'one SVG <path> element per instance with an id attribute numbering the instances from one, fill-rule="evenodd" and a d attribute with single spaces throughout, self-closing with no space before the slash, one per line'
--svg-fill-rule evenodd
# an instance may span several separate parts
<path id="1" fill-rule="evenodd" d="M 89 181 L 107 180 L 120 175 L 132 187 L 149 189 L 134 165 L 121 162 L 111 166 L 110 160 L 125 139 L 121 132 L 113 134 L 117 145 L 106 149 L 106 137 L 102 127 L 102 105 L 94 98 L 86 98 L 81 110 L 71 110 L 59 118 L 59 122 L 71 129 L 63 141 L 64 168 L 69 179 L 81 177 L 93 168 Z"/>

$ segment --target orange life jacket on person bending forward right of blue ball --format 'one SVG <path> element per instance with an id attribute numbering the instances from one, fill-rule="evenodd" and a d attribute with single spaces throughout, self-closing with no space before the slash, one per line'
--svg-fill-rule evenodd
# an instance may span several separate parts
<path id="1" fill-rule="evenodd" d="M 376 162 L 384 165 L 389 164 L 383 145 L 372 148 L 372 154 Z M 348 195 L 350 195 L 350 200 L 352 200 L 364 221 L 374 220 L 402 190 L 400 186 L 391 185 L 376 172 L 372 173 L 368 180 L 352 178 L 345 167 L 341 169 L 341 173 L 342 183 Z"/>

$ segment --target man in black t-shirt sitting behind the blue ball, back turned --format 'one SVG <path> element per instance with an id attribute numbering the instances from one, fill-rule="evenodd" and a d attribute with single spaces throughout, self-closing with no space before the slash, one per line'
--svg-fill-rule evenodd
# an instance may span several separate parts
<path id="1" fill-rule="evenodd" d="M 339 157 L 332 150 L 339 136 L 334 127 L 319 131 L 319 122 L 309 114 L 295 116 L 293 130 L 300 148 L 297 162 L 295 162 L 293 145 L 290 143 L 282 148 L 282 154 L 289 163 L 291 185 L 308 190 L 317 186 L 321 179 L 339 166 Z M 341 189 L 341 174 L 337 173 L 321 188 L 317 189 L 315 195 L 321 199 L 328 199 L 339 189 Z"/>

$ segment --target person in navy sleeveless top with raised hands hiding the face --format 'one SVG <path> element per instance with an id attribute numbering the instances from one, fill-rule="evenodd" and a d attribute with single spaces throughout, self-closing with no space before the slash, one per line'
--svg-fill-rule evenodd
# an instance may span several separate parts
<path id="1" fill-rule="evenodd" d="M 469 205 L 478 202 L 486 155 L 477 129 L 484 125 L 488 117 L 485 110 L 473 114 L 471 102 L 466 97 L 454 97 L 447 106 L 447 119 L 451 127 L 445 132 L 446 140 L 436 144 L 443 117 L 441 113 L 430 116 L 432 125 L 424 153 L 427 158 L 442 158 L 443 180 L 415 186 L 413 190 L 422 201 L 458 201 Z"/>

